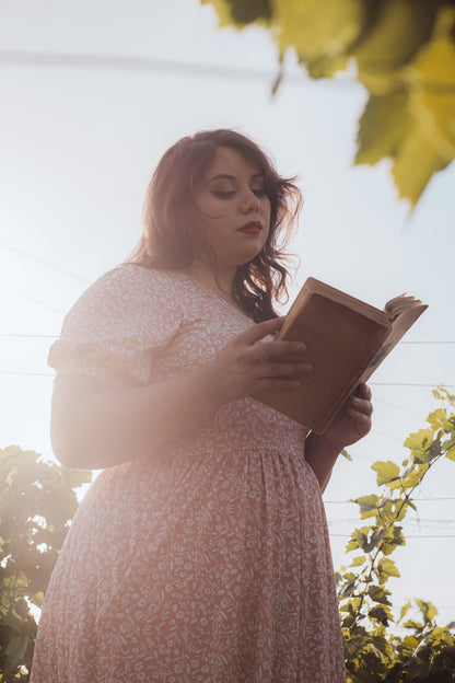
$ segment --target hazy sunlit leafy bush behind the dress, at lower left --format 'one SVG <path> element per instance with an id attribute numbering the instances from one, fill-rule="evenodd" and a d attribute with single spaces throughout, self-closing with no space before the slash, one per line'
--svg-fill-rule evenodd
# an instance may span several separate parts
<path id="1" fill-rule="evenodd" d="M 0 683 L 30 678 L 50 574 L 91 472 L 66 470 L 16 445 L 0 449 Z"/>

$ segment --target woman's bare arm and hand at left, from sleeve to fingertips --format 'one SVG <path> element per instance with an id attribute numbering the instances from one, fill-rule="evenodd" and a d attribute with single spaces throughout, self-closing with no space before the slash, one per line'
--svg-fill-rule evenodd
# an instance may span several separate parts
<path id="1" fill-rule="evenodd" d="M 197 427 L 229 401 L 264 389 L 295 386 L 293 378 L 308 371 L 308 363 L 275 362 L 275 357 L 303 356 L 304 345 L 256 344 L 281 324 L 276 319 L 252 325 L 211 364 L 138 389 L 113 389 L 84 375 L 58 378 L 50 430 L 57 458 L 70 467 L 116 465 Z M 289 379 L 278 379 L 283 375 Z"/>

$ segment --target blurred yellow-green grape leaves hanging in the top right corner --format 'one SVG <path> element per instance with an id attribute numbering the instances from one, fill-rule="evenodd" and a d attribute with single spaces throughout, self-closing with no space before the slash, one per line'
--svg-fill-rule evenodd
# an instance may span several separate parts
<path id="1" fill-rule="evenodd" d="M 392 159 L 400 197 L 413 206 L 455 158 L 453 0 L 200 0 L 221 26 L 269 31 L 314 79 L 351 68 L 369 93 L 355 163 Z M 354 69 L 352 69 L 354 67 Z"/>

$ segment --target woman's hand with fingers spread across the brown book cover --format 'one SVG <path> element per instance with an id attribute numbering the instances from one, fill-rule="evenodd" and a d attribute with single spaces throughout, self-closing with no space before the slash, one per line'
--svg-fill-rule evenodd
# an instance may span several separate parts
<path id="1" fill-rule="evenodd" d="M 222 403 L 254 396 L 264 390 L 296 387 L 302 377 L 313 370 L 305 362 L 303 343 L 261 340 L 278 332 L 283 321 L 277 317 L 252 325 L 231 339 L 208 366 L 212 387 Z"/>

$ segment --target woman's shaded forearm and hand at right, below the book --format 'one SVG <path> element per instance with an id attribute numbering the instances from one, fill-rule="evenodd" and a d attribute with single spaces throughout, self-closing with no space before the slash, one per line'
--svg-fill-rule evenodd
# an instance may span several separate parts
<path id="1" fill-rule="evenodd" d="M 326 431 L 323 435 L 311 433 L 306 439 L 305 460 L 314 471 L 323 493 L 343 448 L 355 443 L 369 433 L 372 413 L 370 387 L 366 384 L 360 384 Z"/>

